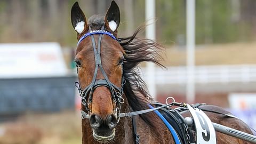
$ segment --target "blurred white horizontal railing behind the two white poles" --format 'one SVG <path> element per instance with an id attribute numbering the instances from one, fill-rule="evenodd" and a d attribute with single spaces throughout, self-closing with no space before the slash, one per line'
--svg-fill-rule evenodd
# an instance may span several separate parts
<path id="1" fill-rule="evenodd" d="M 147 78 L 147 71 L 142 68 L 142 77 Z M 156 84 L 185 84 L 186 67 L 167 67 L 155 69 Z M 195 83 L 249 83 L 256 82 L 256 65 L 218 65 L 196 66 Z"/>

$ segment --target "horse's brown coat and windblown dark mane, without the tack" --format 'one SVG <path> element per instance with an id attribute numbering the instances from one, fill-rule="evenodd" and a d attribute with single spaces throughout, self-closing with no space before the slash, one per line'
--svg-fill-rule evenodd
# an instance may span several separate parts
<path id="1" fill-rule="evenodd" d="M 90 22 L 89 22 L 90 25 Z M 87 29 L 87 28 L 86 28 Z M 108 29 L 107 29 L 108 30 Z M 127 113 L 133 109 L 134 111 L 147 109 L 149 94 L 146 91 L 146 85 L 135 70 L 137 65 L 142 61 L 159 63 L 159 51 L 162 46 L 148 39 L 137 39 L 136 35 L 140 28 L 135 31 L 134 35 L 122 38 L 119 44 L 109 36 L 103 35 L 101 42 L 101 59 L 102 66 L 106 71 L 109 80 L 120 86 L 122 68 L 118 66 L 118 61 L 124 55 L 124 78 L 126 84 L 124 86 L 123 98 L 125 103 L 121 105 L 121 113 Z M 86 31 L 87 32 L 87 31 Z M 85 33 L 85 32 L 84 32 Z M 82 34 L 81 34 L 82 35 Z M 78 35 L 78 38 L 81 37 Z M 98 35 L 94 35 L 95 42 L 98 42 Z M 96 43 L 97 44 L 97 43 Z M 91 38 L 85 38 L 77 47 L 76 59 L 82 63 L 82 67 L 78 68 L 78 78 L 82 89 L 89 85 L 92 81 L 94 73 L 94 54 L 92 49 Z M 97 79 L 103 78 L 98 71 Z M 215 106 L 203 106 L 205 109 L 212 109 L 228 113 L 227 111 Z M 82 105 L 82 109 L 85 108 Z M 100 86 L 93 93 L 93 101 L 90 105 L 92 114 L 98 114 L 101 117 L 113 114 L 113 101 L 111 100 L 110 91 L 105 86 Z M 229 118 L 223 115 L 208 113 L 212 122 L 226 125 L 228 127 L 252 133 L 249 127 L 239 119 Z M 183 114 L 189 116 L 189 113 Z M 137 132 L 140 136 L 140 143 L 174 143 L 170 131 L 165 124 L 154 113 L 135 116 L 137 124 Z M 92 136 L 92 128 L 89 119 L 82 120 L 82 141 L 83 143 L 99 143 Z M 234 137 L 217 132 L 218 143 L 248 143 Z M 132 119 L 130 117 L 121 118 L 116 126 L 115 138 L 108 143 L 134 143 Z"/>

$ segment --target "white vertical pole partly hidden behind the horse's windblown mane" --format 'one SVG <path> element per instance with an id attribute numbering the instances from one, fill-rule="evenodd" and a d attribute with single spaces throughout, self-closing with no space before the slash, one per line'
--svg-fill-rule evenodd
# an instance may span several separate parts
<path id="1" fill-rule="evenodd" d="M 146 3 L 146 38 L 155 40 L 155 0 L 145 0 Z M 154 63 L 147 63 L 147 84 L 149 93 L 156 97 L 155 66 Z"/>

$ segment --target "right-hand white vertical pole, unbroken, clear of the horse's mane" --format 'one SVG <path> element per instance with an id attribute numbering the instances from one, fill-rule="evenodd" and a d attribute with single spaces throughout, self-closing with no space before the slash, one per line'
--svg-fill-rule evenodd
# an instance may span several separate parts
<path id="1" fill-rule="evenodd" d="M 187 93 L 188 103 L 195 101 L 195 0 L 187 0 Z"/>

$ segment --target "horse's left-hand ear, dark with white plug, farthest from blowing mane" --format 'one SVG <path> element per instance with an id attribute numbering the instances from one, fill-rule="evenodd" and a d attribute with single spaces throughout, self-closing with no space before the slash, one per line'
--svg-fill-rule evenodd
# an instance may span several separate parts
<path id="1" fill-rule="evenodd" d="M 87 22 L 85 15 L 81 8 L 78 5 L 78 2 L 75 2 L 71 9 L 71 22 L 73 28 L 78 34 L 81 34 L 87 28 Z"/>

